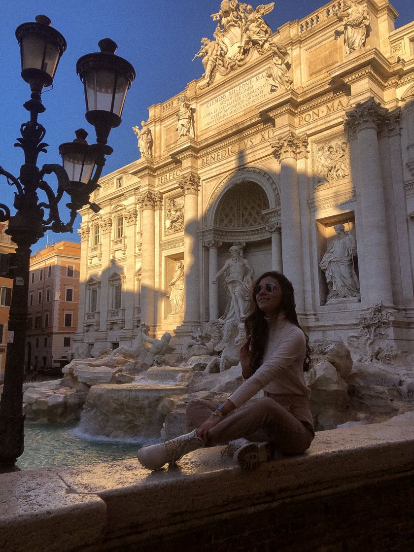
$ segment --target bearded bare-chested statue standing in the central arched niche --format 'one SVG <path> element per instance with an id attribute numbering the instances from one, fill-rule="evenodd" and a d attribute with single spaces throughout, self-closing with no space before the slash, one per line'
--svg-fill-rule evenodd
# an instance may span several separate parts
<path id="1" fill-rule="evenodd" d="M 240 246 L 232 246 L 229 251 L 230 259 L 217 272 L 212 283 L 215 284 L 217 278 L 225 274 L 224 285 L 230 301 L 221 319 L 243 321 L 250 307 L 254 270 L 247 259 L 242 257 Z"/>

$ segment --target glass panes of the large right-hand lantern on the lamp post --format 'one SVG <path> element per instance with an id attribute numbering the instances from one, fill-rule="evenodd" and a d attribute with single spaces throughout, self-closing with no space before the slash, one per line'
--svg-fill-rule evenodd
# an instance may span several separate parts
<path id="1" fill-rule="evenodd" d="M 115 86 L 116 79 L 116 86 Z M 128 81 L 121 76 L 102 69 L 91 70 L 84 76 L 88 111 L 100 110 L 121 115 Z"/>

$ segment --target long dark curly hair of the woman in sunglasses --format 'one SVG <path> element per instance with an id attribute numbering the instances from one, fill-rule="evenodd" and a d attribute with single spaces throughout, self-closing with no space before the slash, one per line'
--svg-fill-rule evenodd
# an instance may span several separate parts
<path id="1" fill-rule="evenodd" d="M 263 278 L 267 276 L 274 278 L 279 282 L 280 288 L 282 289 L 282 303 L 280 304 L 280 310 L 283 310 L 286 316 L 286 319 L 289 320 L 295 326 L 298 326 L 302 330 L 298 322 L 298 315 L 296 314 L 296 305 L 295 305 L 295 291 L 293 285 L 285 277 L 282 272 L 277 272 L 276 270 L 270 270 L 262 274 L 254 285 L 257 285 Z M 246 329 L 246 341 L 250 342 L 250 350 L 252 352 L 252 359 L 250 363 L 250 368 L 253 370 L 253 373 L 259 368 L 262 364 L 264 349 L 266 348 L 267 340 L 269 337 L 269 327 L 265 319 L 265 314 L 259 309 L 259 306 L 256 301 L 256 295 L 252 293 L 252 306 L 250 314 L 246 317 L 245 321 Z M 302 330 L 303 332 L 303 330 Z M 309 337 L 306 333 L 306 352 L 305 359 L 303 363 L 303 369 L 306 372 L 309 370 L 311 361 L 310 361 L 310 348 L 309 348 Z"/>

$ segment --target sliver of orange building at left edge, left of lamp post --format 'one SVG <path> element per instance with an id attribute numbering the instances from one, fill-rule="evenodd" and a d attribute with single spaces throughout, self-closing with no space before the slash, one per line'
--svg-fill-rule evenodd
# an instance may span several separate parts
<path id="1" fill-rule="evenodd" d="M 4 233 L 7 222 L 0 222 L 0 253 L 13 253 L 17 247 L 10 240 L 10 236 Z M 6 364 L 7 336 L 9 323 L 9 307 L 12 297 L 13 280 L 0 277 L 0 383 L 4 378 L 4 365 Z"/>

